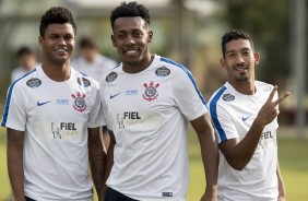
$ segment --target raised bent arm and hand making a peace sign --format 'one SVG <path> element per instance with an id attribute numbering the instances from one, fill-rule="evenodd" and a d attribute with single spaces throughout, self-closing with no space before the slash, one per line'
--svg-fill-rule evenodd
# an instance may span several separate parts
<path id="1" fill-rule="evenodd" d="M 286 98 L 289 93 L 287 92 L 275 102 L 272 102 L 276 91 L 277 86 L 271 92 L 268 100 L 260 109 L 251 128 L 241 141 L 239 141 L 239 139 L 230 139 L 220 144 L 222 153 L 233 168 L 241 170 L 250 162 L 264 127 L 277 117 L 280 110 L 276 106 Z"/>

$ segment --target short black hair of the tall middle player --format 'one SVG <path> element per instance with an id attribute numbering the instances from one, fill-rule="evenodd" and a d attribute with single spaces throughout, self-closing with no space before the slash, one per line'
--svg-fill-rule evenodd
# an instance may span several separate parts
<path id="1" fill-rule="evenodd" d="M 117 7 L 110 15 L 111 27 L 115 26 L 115 21 L 119 17 L 133 17 L 140 16 L 150 25 L 150 12 L 143 4 L 138 4 L 135 1 L 133 2 L 122 2 L 119 7 Z"/>

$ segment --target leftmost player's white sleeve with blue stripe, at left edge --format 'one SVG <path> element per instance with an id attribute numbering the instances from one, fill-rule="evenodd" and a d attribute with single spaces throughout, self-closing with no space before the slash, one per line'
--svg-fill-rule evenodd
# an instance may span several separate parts
<path id="1" fill-rule="evenodd" d="M 27 98 L 24 97 L 25 92 L 25 90 L 20 88 L 16 82 L 13 82 L 9 87 L 2 116 L 2 127 L 25 131 L 27 118 L 25 107 Z"/>

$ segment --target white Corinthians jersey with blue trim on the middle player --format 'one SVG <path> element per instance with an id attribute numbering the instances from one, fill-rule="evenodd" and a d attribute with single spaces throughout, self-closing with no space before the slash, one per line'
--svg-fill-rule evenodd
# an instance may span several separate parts
<path id="1" fill-rule="evenodd" d="M 155 56 L 135 74 L 120 64 L 100 86 L 107 127 L 116 138 L 107 186 L 135 200 L 185 200 L 188 120 L 208 111 L 192 74 Z"/>

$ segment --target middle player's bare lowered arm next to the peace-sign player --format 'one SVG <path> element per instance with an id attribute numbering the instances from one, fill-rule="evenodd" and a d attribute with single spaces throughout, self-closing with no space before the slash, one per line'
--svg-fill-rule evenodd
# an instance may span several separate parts
<path id="1" fill-rule="evenodd" d="M 218 150 L 209 114 L 192 120 L 191 125 L 198 134 L 205 170 L 206 188 L 201 200 L 216 200 Z"/>

